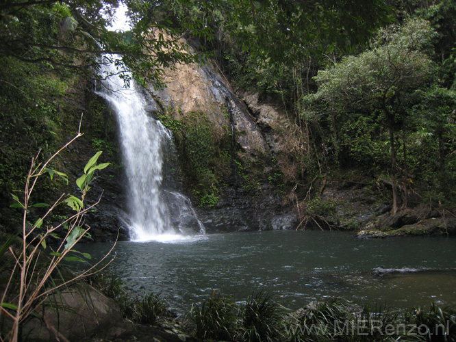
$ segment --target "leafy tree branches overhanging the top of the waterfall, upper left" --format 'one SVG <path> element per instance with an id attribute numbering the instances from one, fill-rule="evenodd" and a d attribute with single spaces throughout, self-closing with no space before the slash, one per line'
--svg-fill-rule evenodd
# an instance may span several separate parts
<path id="1" fill-rule="evenodd" d="M 112 53 L 118 55 L 110 58 L 116 60 L 125 81 L 129 81 L 123 68 L 127 65 L 159 86 L 163 68 L 192 60 L 177 39 L 164 38 L 162 25 L 152 31 L 151 25 L 137 20 L 127 34 L 111 31 L 108 27 L 117 5 L 117 0 L 3 2 L 0 57 L 87 71 L 103 63 L 101 55 Z"/>

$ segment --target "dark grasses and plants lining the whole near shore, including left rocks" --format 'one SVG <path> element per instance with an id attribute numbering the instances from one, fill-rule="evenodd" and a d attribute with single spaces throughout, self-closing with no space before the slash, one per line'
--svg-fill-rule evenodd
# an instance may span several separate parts
<path id="1" fill-rule="evenodd" d="M 451 342 L 456 339 L 454 305 L 430 303 L 405 310 L 325 298 L 292 311 L 278 304 L 273 293 L 259 289 L 236 302 L 214 291 L 200 304 L 192 304 L 187 313 L 177 314 L 169 311 L 168 304 L 158 294 L 131 298 L 123 281 L 112 272 L 85 278 L 72 291 L 73 296 L 86 293 L 81 297 L 86 304 L 72 307 L 66 302 L 58 310 L 43 306 L 43 311 L 52 311 L 57 317 L 46 322 L 25 321 L 21 331 L 26 332 L 26 341 Z M 96 298 L 94 293 L 102 293 L 105 299 Z M 100 309 L 101 302 L 110 306 L 107 315 L 103 313 L 105 308 Z M 97 317 L 96 322 L 88 324 L 89 317 Z M 84 331 L 77 324 L 79 319 L 86 324 Z M 63 329 L 50 329 L 52 323 Z M 3 329 L 0 336 L 5 337 Z"/>

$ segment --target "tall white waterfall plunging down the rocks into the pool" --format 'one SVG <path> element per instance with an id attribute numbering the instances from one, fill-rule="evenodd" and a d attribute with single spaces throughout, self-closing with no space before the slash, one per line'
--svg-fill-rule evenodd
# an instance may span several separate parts
<path id="1" fill-rule="evenodd" d="M 116 56 L 110 56 L 110 59 L 116 60 Z M 172 141 L 170 131 L 148 114 L 147 108 L 151 104 L 138 91 L 134 81 L 125 88 L 114 62 L 103 66 L 101 76 L 102 87 L 96 93 L 114 109 L 120 131 L 132 239 L 164 239 L 177 233 L 204 233 L 190 200 L 182 194 L 176 196 L 175 191 L 164 192 L 162 189 L 163 153 L 164 146 Z"/>

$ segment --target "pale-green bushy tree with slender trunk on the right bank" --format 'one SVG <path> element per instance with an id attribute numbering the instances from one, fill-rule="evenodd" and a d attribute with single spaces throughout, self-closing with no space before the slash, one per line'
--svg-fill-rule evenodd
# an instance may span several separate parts
<path id="1" fill-rule="evenodd" d="M 394 134 L 407 113 L 407 96 L 431 78 L 433 64 L 428 51 L 433 36 L 429 22 L 419 19 L 381 29 L 370 49 L 320 70 L 318 92 L 309 96 L 309 101 L 325 105 L 334 126 L 335 117 L 343 120 L 353 112 L 379 115 L 390 138 L 392 213 L 398 210 Z"/>

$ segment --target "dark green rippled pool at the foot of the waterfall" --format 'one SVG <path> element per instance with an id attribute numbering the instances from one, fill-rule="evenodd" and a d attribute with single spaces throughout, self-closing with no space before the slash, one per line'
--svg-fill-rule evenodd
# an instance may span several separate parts
<path id="1" fill-rule="evenodd" d="M 78 250 L 101 257 L 110 244 Z M 456 304 L 456 272 L 379 276 L 376 267 L 456 268 L 456 239 L 355 239 L 323 231 L 267 231 L 207 235 L 174 243 L 120 242 L 111 267 L 133 293 L 161 293 L 177 310 L 213 291 L 245 300 L 265 288 L 289 308 L 342 296 L 358 304 L 392 308 Z"/>

